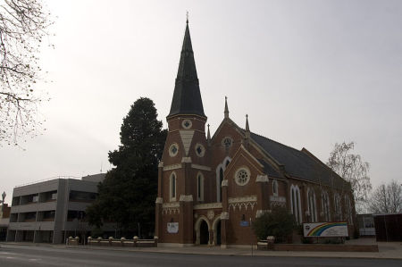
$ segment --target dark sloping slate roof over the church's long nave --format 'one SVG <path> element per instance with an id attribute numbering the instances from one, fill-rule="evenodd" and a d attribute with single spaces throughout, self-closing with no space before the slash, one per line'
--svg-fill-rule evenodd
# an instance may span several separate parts
<path id="1" fill-rule="evenodd" d="M 290 176 L 322 183 L 328 186 L 332 185 L 333 180 L 336 188 L 342 186 L 343 179 L 340 179 L 338 174 L 331 171 L 331 169 L 323 165 L 323 163 L 319 163 L 318 159 L 315 160 L 305 152 L 290 146 L 282 145 L 281 143 L 269 138 L 264 138 L 255 133 L 251 133 L 250 138 L 261 146 L 267 154 L 272 155 L 273 159 L 283 165 L 284 170 Z M 274 173 L 269 169 L 269 167 L 267 167 L 267 171 L 268 175 L 272 173 L 272 176 L 274 176 Z"/>

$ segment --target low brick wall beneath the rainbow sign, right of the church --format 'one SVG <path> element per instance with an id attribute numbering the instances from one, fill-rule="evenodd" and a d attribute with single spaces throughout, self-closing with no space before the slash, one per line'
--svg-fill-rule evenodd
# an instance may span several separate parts
<path id="1" fill-rule="evenodd" d="M 274 251 L 334 251 L 334 252 L 378 252 L 377 245 L 345 244 L 273 244 L 258 242 L 259 250 Z"/>

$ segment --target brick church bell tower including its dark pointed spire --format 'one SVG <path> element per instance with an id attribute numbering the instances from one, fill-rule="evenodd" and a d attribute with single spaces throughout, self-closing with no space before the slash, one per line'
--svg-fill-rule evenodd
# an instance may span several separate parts
<path id="1" fill-rule="evenodd" d="M 160 243 L 194 244 L 193 206 L 209 200 L 204 194 L 211 175 L 206 119 L 187 20 L 158 169 L 155 234 Z"/>

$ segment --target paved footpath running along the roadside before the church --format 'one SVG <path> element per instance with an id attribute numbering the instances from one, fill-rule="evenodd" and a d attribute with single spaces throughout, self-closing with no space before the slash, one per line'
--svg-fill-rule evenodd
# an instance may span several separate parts
<path id="1" fill-rule="evenodd" d="M 377 244 L 379 252 L 322 252 L 322 251 L 260 251 L 255 248 L 221 248 L 219 246 L 189 246 L 189 247 L 121 247 L 121 246 L 65 246 L 52 244 L 34 243 L 0 243 L 4 246 L 52 246 L 65 247 L 67 249 L 93 249 L 93 250 L 115 250 L 147 253 L 169 253 L 169 254 L 215 254 L 215 255 L 255 255 L 272 257 L 329 257 L 329 258 L 372 258 L 372 259 L 396 259 L 402 260 L 402 242 L 376 242 L 373 238 L 359 238 L 348 240 L 348 245 L 372 245 Z M 336 246 L 336 245 L 334 245 Z"/>

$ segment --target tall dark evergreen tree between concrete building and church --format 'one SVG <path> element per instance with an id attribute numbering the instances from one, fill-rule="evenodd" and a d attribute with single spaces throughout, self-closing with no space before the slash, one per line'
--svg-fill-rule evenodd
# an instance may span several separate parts
<path id="1" fill-rule="evenodd" d="M 88 207 L 88 221 L 101 226 L 116 223 L 117 229 L 145 235 L 155 228 L 157 165 L 167 131 L 157 120 L 154 102 L 139 98 L 121 124 L 121 146 L 109 152 L 115 167 L 98 186 L 98 197 Z"/>

